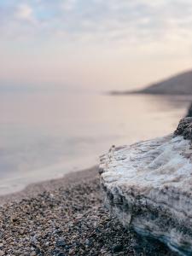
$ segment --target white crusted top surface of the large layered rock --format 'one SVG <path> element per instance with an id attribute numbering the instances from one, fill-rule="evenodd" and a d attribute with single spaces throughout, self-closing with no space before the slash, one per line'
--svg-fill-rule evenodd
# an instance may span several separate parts
<path id="1" fill-rule="evenodd" d="M 153 141 L 112 148 L 102 157 L 102 179 L 111 189 L 141 184 L 155 189 L 172 184 L 185 188 L 192 181 L 190 143 L 183 137 L 160 137 Z M 188 188 L 186 188 L 188 189 Z"/>

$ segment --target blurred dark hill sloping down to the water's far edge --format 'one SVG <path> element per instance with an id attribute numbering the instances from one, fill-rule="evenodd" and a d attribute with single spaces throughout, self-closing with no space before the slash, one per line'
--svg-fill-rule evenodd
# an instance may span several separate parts
<path id="1" fill-rule="evenodd" d="M 134 91 L 112 91 L 113 95 L 124 95 L 132 93 L 163 94 L 163 95 L 192 95 L 192 71 L 177 74 L 159 83 L 151 84 L 143 90 Z"/>

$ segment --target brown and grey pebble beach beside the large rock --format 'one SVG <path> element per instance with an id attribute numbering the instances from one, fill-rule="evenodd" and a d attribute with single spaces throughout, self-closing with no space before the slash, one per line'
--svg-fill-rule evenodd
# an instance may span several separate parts
<path id="1" fill-rule="evenodd" d="M 98 167 L 1 197 L 0 255 L 175 255 L 104 207 Z"/>

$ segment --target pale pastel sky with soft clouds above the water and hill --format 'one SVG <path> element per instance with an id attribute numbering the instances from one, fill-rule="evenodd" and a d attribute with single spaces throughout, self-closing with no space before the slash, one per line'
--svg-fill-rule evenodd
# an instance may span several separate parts
<path id="1" fill-rule="evenodd" d="M 192 68 L 191 0 L 0 0 L 0 89 L 131 90 Z"/>

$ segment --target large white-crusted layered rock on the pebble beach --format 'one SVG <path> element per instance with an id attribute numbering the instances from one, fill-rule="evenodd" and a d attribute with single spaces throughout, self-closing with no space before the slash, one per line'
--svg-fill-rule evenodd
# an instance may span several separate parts
<path id="1" fill-rule="evenodd" d="M 125 227 L 192 255 L 192 119 L 174 134 L 101 157 L 106 204 Z M 187 139 L 184 139 L 184 137 Z"/>

